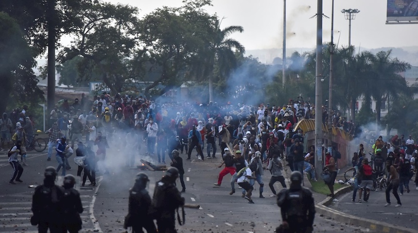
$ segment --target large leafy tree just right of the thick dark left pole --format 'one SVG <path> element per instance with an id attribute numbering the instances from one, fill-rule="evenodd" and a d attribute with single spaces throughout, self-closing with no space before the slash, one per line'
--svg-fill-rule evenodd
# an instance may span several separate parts
<path id="1" fill-rule="evenodd" d="M 80 22 L 72 32 L 74 41 L 64 48 L 59 61 L 64 63 L 81 56 L 79 61 L 83 81 L 100 76 L 114 93 L 132 78 L 128 59 L 133 57 L 138 41 L 138 9 L 129 5 L 114 5 L 94 1 L 82 5 L 78 15 Z"/>

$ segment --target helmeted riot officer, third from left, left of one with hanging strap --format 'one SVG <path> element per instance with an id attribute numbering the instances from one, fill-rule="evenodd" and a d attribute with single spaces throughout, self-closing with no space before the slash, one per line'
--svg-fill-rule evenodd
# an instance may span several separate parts
<path id="1" fill-rule="evenodd" d="M 139 172 L 134 186 L 129 190 L 128 215 L 123 227 L 132 227 L 133 233 L 143 233 L 142 228 L 147 233 L 157 233 L 154 219 L 150 215 L 151 197 L 145 189 L 149 181 L 145 173 Z"/>

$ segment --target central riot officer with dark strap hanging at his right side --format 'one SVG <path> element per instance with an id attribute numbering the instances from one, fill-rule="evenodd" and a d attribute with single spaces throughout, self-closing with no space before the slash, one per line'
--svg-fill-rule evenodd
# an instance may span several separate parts
<path id="1" fill-rule="evenodd" d="M 160 181 L 156 183 L 153 207 L 156 211 L 159 233 L 177 233 L 175 230 L 175 210 L 184 205 L 184 198 L 175 187 L 178 170 L 170 167 Z M 177 215 L 178 217 L 178 215 Z"/>

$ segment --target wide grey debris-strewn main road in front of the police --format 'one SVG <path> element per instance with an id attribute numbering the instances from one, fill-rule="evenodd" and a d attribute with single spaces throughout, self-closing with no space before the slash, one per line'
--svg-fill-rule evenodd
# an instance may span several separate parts
<path id="1" fill-rule="evenodd" d="M 122 151 L 108 153 L 106 160 L 110 165 L 110 174 L 98 173 L 98 185 L 94 189 L 80 190 L 85 212 L 82 214 L 83 232 L 123 232 L 123 216 L 127 214 L 128 190 L 134 182 L 135 174 L 139 171 L 124 166 Z M 246 232 L 273 232 L 280 224 L 280 212 L 274 198 L 269 198 L 271 191 L 268 187 L 264 190 L 265 199 L 258 198 L 258 191 L 254 191 L 255 204 L 249 204 L 241 198 L 239 191 L 230 196 L 230 176 L 224 178 L 221 187 L 214 187 L 217 181 L 221 162 L 219 159 L 199 161 L 186 161 L 185 182 L 186 193 L 183 194 L 188 203 L 201 205 L 201 209 L 186 209 L 186 225 L 179 226 L 180 233 L 190 232 L 216 232 L 216 233 L 246 233 Z M 11 175 L 11 166 L 7 163 L 0 164 L 0 232 L 27 233 L 36 232 L 36 227 L 31 226 L 31 201 L 33 188 L 28 185 L 42 183 L 43 171 L 46 166 L 57 166 L 57 162 L 46 161 L 45 153 L 31 154 L 28 159 L 29 167 L 24 167 L 23 183 L 8 184 Z M 0 159 L 7 155 L 0 155 Z M 52 156 L 54 158 L 54 156 Z M 168 159 L 168 158 L 167 158 Z M 2 161 L 2 160 L 0 160 Z M 167 161 L 168 162 L 168 161 Z M 75 175 L 75 165 L 69 171 Z M 155 182 L 163 176 L 161 171 L 147 171 L 150 176 L 149 190 L 152 195 Z M 264 177 L 268 183 L 269 174 Z M 87 182 L 88 184 L 88 182 Z M 267 185 L 266 185 L 267 186 Z M 277 183 L 276 190 L 279 190 Z M 256 185 L 259 189 L 259 185 Z M 368 231 L 348 226 L 344 223 L 332 222 L 320 216 L 315 218 L 315 232 L 342 232 L 351 233 Z M 368 231 L 370 232 L 370 231 Z"/>

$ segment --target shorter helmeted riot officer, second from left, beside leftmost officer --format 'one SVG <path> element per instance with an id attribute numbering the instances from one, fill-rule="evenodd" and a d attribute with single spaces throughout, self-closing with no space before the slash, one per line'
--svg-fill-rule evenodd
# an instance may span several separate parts
<path id="1" fill-rule="evenodd" d="M 81 204 L 80 193 L 74 189 L 75 177 L 68 174 L 64 177 L 64 196 L 62 198 L 62 220 L 63 233 L 78 233 L 81 230 L 81 217 L 83 205 Z"/>

